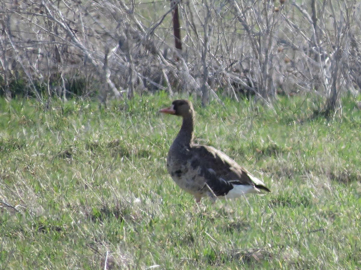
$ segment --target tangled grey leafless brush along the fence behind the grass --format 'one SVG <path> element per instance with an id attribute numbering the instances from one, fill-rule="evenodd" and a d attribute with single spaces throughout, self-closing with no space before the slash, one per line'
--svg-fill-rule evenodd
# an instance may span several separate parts
<path id="1" fill-rule="evenodd" d="M 174 49 L 172 9 L 181 11 Z M 337 107 L 361 87 L 360 3 L 356 0 L 3 0 L 0 83 L 27 93 L 132 98 L 187 91 L 218 98 L 316 92 Z M 222 91 L 219 91 L 222 90 Z"/>

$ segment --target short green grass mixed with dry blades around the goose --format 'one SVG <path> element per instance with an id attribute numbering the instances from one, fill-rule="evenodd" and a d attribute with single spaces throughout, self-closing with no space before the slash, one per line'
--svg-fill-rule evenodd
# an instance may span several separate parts
<path id="1" fill-rule="evenodd" d="M 197 141 L 272 190 L 200 206 L 166 172 L 170 102 L 1 99 L 0 269 L 361 268 L 354 99 L 332 121 L 308 120 L 310 97 L 194 102 Z"/>

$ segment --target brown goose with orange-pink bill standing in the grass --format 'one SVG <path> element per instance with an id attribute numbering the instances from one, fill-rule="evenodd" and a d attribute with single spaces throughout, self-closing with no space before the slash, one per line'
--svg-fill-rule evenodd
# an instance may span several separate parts
<path id="1" fill-rule="evenodd" d="M 265 184 L 223 152 L 193 143 L 194 110 L 188 100 L 174 100 L 159 112 L 183 117 L 181 130 L 169 148 L 167 169 L 175 183 L 194 195 L 196 202 L 209 196 L 238 198 L 245 193 L 270 192 Z"/>

